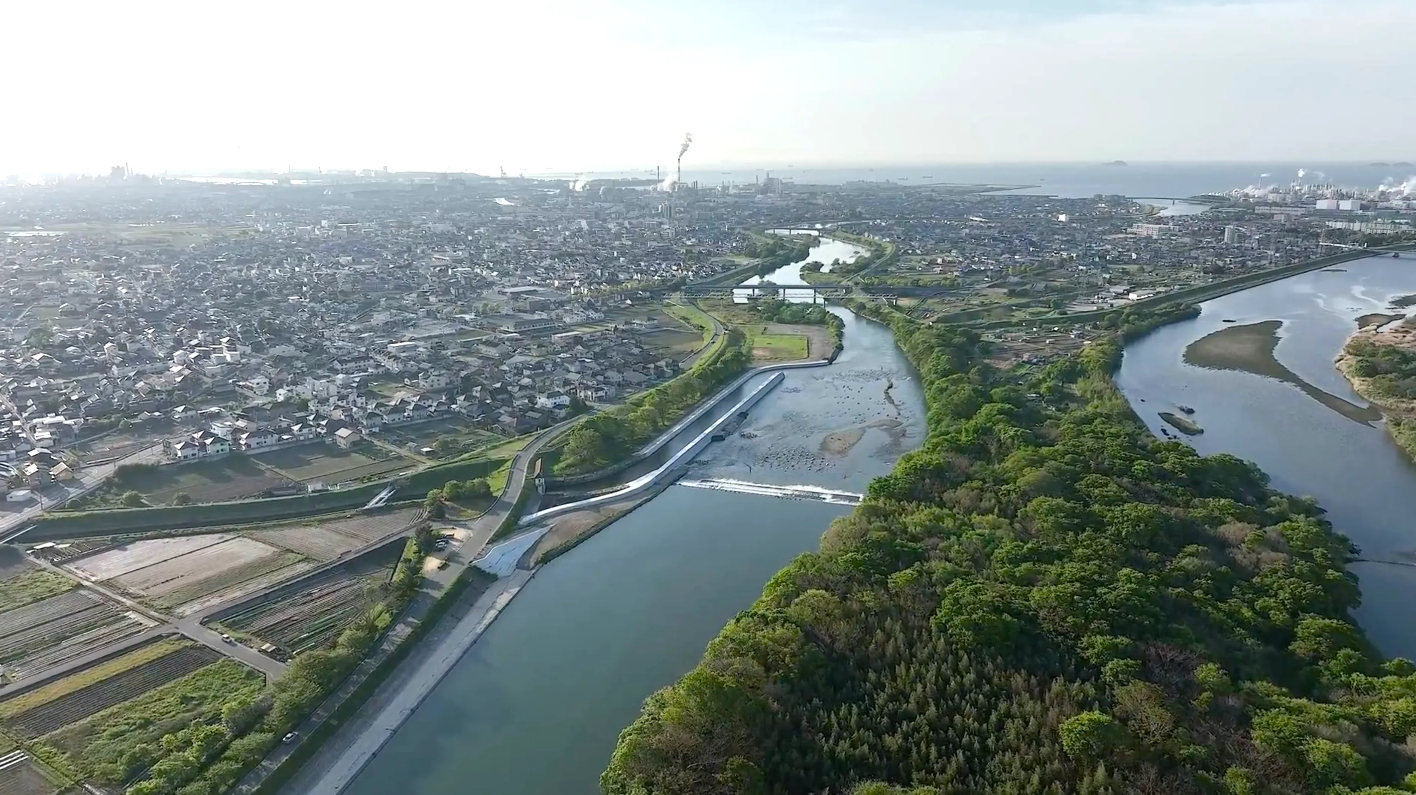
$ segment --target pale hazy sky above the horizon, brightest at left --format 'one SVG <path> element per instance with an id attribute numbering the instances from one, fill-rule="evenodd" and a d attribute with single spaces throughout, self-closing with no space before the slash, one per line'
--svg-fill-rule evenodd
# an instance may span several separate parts
<path id="1" fill-rule="evenodd" d="M 1416 0 L 4 6 L 0 176 L 1416 160 Z"/>

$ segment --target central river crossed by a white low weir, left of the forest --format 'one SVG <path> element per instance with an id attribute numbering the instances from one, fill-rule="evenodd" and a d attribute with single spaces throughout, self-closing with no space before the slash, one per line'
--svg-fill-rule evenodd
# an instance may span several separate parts
<path id="1" fill-rule="evenodd" d="M 852 251 L 824 241 L 813 258 Z M 787 371 L 739 434 L 692 462 L 690 478 L 864 492 L 922 444 L 923 394 L 893 336 L 837 312 L 845 320 L 837 361 Z M 544 565 L 346 792 L 599 792 L 643 700 L 692 667 L 766 581 L 817 548 L 848 510 L 671 486 Z"/>

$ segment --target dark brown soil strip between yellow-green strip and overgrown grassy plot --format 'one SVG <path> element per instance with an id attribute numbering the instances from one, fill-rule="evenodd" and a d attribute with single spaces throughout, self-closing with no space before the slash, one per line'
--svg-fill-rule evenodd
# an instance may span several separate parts
<path id="1" fill-rule="evenodd" d="M 187 646 L 20 713 L 10 723 L 25 737 L 40 737 L 176 682 L 218 659 L 221 655 L 205 646 Z"/>

